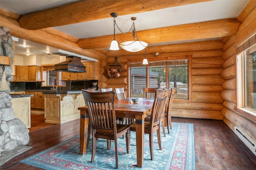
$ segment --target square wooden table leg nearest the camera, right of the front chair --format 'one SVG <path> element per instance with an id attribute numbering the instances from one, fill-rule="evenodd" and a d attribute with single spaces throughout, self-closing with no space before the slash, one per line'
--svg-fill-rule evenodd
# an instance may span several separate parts
<path id="1" fill-rule="evenodd" d="M 136 115 L 137 166 L 143 166 L 144 159 L 144 115 Z"/>

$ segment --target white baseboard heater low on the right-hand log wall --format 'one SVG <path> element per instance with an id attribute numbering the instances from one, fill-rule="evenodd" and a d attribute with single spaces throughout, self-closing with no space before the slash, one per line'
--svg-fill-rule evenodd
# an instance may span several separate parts
<path id="1" fill-rule="evenodd" d="M 235 127 L 236 135 L 243 141 L 243 143 L 252 151 L 256 156 L 256 141 L 247 135 L 241 128 Z"/>

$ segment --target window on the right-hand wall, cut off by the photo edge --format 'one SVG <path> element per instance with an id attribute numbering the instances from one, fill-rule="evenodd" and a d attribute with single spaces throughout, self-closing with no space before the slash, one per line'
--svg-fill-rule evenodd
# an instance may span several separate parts
<path id="1" fill-rule="evenodd" d="M 256 34 L 237 49 L 238 109 L 256 116 Z"/>

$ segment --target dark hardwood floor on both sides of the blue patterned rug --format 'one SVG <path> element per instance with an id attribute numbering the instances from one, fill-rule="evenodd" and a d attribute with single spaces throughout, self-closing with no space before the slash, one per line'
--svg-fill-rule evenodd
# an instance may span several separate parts
<path id="1" fill-rule="evenodd" d="M 178 117 L 172 117 L 172 121 L 194 124 L 196 170 L 256 170 L 256 156 L 223 121 Z M 42 170 L 19 161 L 66 141 L 78 135 L 79 131 L 79 119 L 30 131 L 28 146 L 32 149 L 14 157 L 0 169 Z"/>

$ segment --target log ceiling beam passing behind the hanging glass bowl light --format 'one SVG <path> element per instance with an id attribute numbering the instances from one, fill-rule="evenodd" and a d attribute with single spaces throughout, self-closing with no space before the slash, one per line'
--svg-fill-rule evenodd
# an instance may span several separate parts
<path id="1" fill-rule="evenodd" d="M 191 41 L 234 35 L 238 31 L 240 24 L 235 19 L 222 19 L 137 31 L 137 35 L 141 41 L 146 41 L 149 45 L 185 40 Z M 131 35 L 132 33 L 116 34 L 116 40 L 128 39 Z M 112 40 L 113 35 L 104 35 L 80 39 L 77 43 L 83 49 L 98 49 L 109 48 Z"/>

